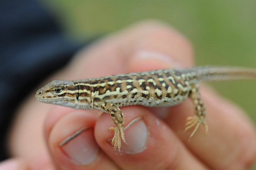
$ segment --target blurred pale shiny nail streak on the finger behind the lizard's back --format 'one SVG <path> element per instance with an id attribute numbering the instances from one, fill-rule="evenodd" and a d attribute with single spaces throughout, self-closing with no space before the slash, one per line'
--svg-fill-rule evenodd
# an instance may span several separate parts
<path id="1" fill-rule="evenodd" d="M 175 68 L 181 67 L 180 63 L 174 61 L 171 57 L 162 54 L 160 52 L 154 52 L 154 51 L 139 51 L 136 53 L 136 58 L 137 59 L 151 59 L 151 60 L 158 60 L 161 62 L 164 62 L 168 65 L 171 65 Z"/>

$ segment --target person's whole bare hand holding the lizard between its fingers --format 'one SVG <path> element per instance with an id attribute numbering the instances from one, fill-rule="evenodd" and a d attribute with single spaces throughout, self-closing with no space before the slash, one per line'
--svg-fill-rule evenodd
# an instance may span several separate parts
<path id="1" fill-rule="evenodd" d="M 183 35 L 164 23 L 144 21 L 81 50 L 67 66 L 42 80 L 41 86 L 53 79 L 86 79 L 191 66 L 193 50 Z M 109 114 L 41 103 L 34 97 L 35 91 L 17 110 L 9 132 L 8 147 L 13 156 L 9 162 L 20 169 L 242 170 L 255 161 L 256 133 L 248 117 L 203 85 L 200 92 L 207 111 L 207 136 L 203 135 L 203 127 L 190 142 L 193 129 L 183 133 L 186 117 L 193 115 L 189 98 L 168 108 L 121 107 L 124 127 L 140 118 L 124 131 L 128 145 L 122 143 L 122 155 L 115 154 L 109 142 L 114 135 L 108 131 L 114 126 Z M 58 146 L 82 127 L 86 130 L 81 135 Z M 141 137 L 143 134 L 147 134 L 146 138 Z"/>

